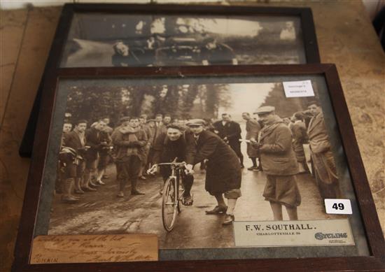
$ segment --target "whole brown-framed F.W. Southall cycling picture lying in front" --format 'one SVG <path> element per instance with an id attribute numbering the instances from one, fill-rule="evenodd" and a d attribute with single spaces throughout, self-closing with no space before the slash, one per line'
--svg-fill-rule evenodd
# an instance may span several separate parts
<path id="1" fill-rule="evenodd" d="M 13 271 L 385 268 L 334 65 L 64 69 L 43 91 Z"/>

